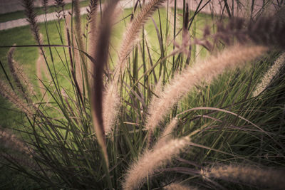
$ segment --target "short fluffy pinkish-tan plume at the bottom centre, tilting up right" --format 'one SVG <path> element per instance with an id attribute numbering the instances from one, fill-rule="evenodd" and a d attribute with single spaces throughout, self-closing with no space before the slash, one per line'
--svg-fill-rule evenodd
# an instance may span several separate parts
<path id="1" fill-rule="evenodd" d="M 182 137 L 180 139 L 171 139 L 162 147 L 146 150 L 138 161 L 130 166 L 123 183 L 123 189 L 140 189 L 142 184 L 147 179 L 147 176 L 155 174 L 157 169 L 165 166 L 171 159 L 182 151 L 189 142 L 188 137 Z"/>

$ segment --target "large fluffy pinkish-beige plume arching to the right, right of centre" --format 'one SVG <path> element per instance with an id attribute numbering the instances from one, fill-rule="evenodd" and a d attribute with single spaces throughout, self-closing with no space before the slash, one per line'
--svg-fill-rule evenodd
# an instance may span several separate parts
<path id="1" fill-rule="evenodd" d="M 173 105 L 190 92 L 195 85 L 200 85 L 203 81 L 209 83 L 225 69 L 242 66 L 266 53 L 267 50 L 265 46 L 238 44 L 224 49 L 216 56 L 209 56 L 206 60 L 198 61 L 193 67 L 188 66 L 181 74 L 175 75 L 169 85 L 165 86 L 162 96 L 155 102 L 156 106 L 149 112 L 145 124 L 146 129 L 154 130 Z"/>

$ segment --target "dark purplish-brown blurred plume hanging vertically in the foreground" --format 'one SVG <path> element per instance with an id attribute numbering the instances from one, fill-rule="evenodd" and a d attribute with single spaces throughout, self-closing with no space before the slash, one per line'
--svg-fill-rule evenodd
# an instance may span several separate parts
<path id="1" fill-rule="evenodd" d="M 95 129 L 98 143 L 102 148 L 105 163 L 108 166 L 108 153 L 105 145 L 105 130 L 103 122 L 103 72 L 108 63 L 109 41 L 111 33 L 111 18 L 118 1 L 111 1 L 103 12 L 102 22 L 98 33 L 96 47 L 91 55 L 95 60 L 93 69 L 93 90 L 91 93 L 91 112 L 93 117 L 93 127 Z"/>

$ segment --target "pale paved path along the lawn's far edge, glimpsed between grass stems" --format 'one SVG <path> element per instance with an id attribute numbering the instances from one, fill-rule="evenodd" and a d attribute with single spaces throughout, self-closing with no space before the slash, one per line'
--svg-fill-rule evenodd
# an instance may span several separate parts
<path id="1" fill-rule="evenodd" d="M 0 1 L 8 1 L 8 0 L 0 0 Z M 9 0 L 9 1 L 11 1 L 11 0 Z M 16 1 L 16 0 L 12 0 L 12 1 Z M 71 0 L 65 0 L 65 1 L 71 1 Z M 197 5 L 199 4 L 199 1 L 193 1 L 193 0 L 188 0 L 188 1 L 189 1 L 188 4 L 189 4 L 190 10 L 192 10 L 192 11 L 195 10 L 197 8 Z M 242 1 L 245 1 L 245 0 L 242 0 Z M 263 0 L 255 1 L 256 6 L 254 6 L 254 14 L 257 12 L 257 10 L 260 9 L 260 7 L 262 5 L 262 1 Z M 182 9 L 182 7 L 183 7 L 182 2 L 183 2 L 182 0 L 177 1 L 177 8 L 178 9 Z M 204 5 L 206 3 L 206 1 L 203 1 L 203 2 L 204 3 L 202 3 L 202 5 Z M 122 9 L 133 7 L 133 5 L 134 5 L 133 0 L 120 1 L 118 4 L 118 6 Z M 244 6 L 247 7 L 247 4 L 244 4 Z M 170 7 L 174 7 L 174 1 L 170 0 Z M 222 11 L 224 10 L 223 7 L 224 7 L 224 4 L 220 4 L 218 0 L 212 0 L 209 2 L 209 4 L 207 4 L 207 6 L 204 6 L 204 8 L 202 9 L 202 12 L 207 13 L 207 14 L 214 13 L 217 15 L 221 15 Z M 81 14 L 87 14 L 86 8 L 87 7 L 81 8 Z M 237 4 L 234 4 L 234 10 L 238 10 Z M 246 9 L 243 9 L 243 10 L 246 10 Z M 67 10 L 67 11 L 70 11 L 70 10 Z M 66 14 L 67 14 L 67 11 L 66 11 Z M 271 4 L 269 6 L 269 12 L 273 13 L 274 11 L 275 11 L 274 6 Z M 248 11 L 243 11 L 243 12 L 242 11 L 239 11 L 239 12 L 235 11 L 234 14 L 235 14 L 235 16 L 247 17 L 247 16 L 249 16 L 247 14 L 247 12 Z M 224 11 L 224 15 L 227 15 L 227 13 L 225 11 Z M 53 21 L 53 20 L 56 20 L 58 18 L 56 16 L 56 13 L 51 13 L 51 14 L 46 14 L 46 18 L 45 18 L 45 15 L 39 15 L 39 16 L 37 16 L 36 19 L 38 22 L 41 23 L 44 21 Z M 19 27 L 19 26 L 26 26 L 26 25 L 28 25 L 28 21 L 26 21 L 26 19 L 17 19 L 14 21 L 7 21 L 4 23 L 0 23 L 0 31 L 6 30 L 9 28 Z"/>

